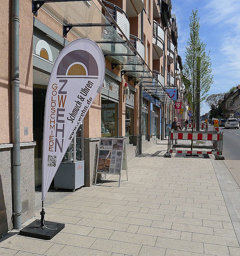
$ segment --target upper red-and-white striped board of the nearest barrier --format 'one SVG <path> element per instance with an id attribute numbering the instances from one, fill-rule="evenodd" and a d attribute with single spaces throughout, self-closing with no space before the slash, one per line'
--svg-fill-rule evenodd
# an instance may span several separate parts
<path id="1" fill-rule="evenodd" d="M 212 133 L 173 132 L 171 133 L 171 139 L 173 140 L 220 140 L 220 134 L 219 133 L 212 134 Z"/>

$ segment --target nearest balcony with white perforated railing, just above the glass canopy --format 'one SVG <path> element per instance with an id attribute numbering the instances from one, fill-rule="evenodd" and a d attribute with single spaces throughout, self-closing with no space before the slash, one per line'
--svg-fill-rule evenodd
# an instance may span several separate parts
<path id="1" fill-rule="evenodd" d="M 121 8 L 119 8 L 118 6 L 116 6 L 110 2 L 103 1 L 103 4 L 105 5 L 106 9 L 109 11 L 112 18 L 116 21 L 116 23 L 118 24 L 118 26 L 120 27 L 120 29 L 122 30 L 124 35 L 129 39 L 130 22 L 129 22 L 127 14 Z M 107 18 L 107 20 L 110 23 L 112 23 L 112 20 L 107 13 L 105 14 L 105 17 Z M 122 35 L 118 28 L 116 28 L 116 31 L 120 35 Z"/>

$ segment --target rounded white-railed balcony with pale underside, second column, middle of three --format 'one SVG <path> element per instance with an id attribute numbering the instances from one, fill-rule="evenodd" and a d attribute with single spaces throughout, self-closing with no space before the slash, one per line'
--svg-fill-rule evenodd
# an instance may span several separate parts
<path id="1" fill-rule="evenodd" d="M 152 43 L 153 60 L 160 59 L 163 56 L 164 31 L 155 20 L 153 21 Z"/>

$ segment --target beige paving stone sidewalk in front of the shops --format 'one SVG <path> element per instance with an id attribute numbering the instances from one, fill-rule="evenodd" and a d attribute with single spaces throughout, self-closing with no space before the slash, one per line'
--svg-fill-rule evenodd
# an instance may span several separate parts
<path id="1" fill-rule="evenodd" d="M 52 203 L 46 220 L 65 228 L 50 241 L 13 230 L 0 239 L 0 255 L 239 256 L 215 161 L 163 158 L 165 150 L 161 142 L 129 161 L 120 188 L 117 177 L 107 175 L 103 184 Z"/>

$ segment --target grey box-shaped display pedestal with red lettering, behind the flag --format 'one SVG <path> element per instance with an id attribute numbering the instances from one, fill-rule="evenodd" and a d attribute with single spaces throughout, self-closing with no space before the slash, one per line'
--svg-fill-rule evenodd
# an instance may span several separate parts
<path id="1" fill-rule="evenodd" d="M 84 161 L 61 162 L 54 176 L 54 188 L 75 189 L 84 186 Z"/>

